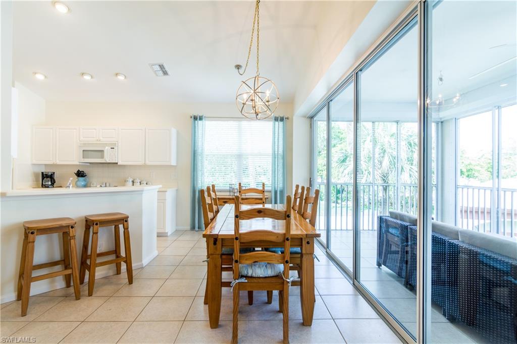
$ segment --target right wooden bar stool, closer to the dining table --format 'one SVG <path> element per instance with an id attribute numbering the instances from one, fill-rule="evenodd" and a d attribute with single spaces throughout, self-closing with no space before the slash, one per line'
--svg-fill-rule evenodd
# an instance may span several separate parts
<path id="1" fill-rule="evenodd" d="M 88 277 L 88 296 L 92 296 L 95 286 L 95 270 L 104 265 L 116 264 L 117 275 L 120 275 L 122 262 L 126 263 L 126 271 L 128 274 L 129 284 L 133 284 L 133 265 L 131 262 L 131 243 L 129 240 L 129 215 L 124 213 L 105 213 L 84 216 L 86 224 L 84 227 L 83 251 L 81 253 L 81 272 L 79 276 L 80 283 L 84 283 L 86 270 L 89 272 Z M 126 248 L 126 256 L 120 254 L 120 225 L 124 228 L 124 246 Z M 113 251 L 97 252 L 99 240 L 99 228 L 114 226 L 115 231 L 115 249 Z M 92 248 L 88 254 L 88 243 L 90 240 L 90 228 L 92 230 Z M 115 255 L 115 258 L 97 262 L 97 257 Z M 88 264 L 87 260 L 90 260 Z"/>

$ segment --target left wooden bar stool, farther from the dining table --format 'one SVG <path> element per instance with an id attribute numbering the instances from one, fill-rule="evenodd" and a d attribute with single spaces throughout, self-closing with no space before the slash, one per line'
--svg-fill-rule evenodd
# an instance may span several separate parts
<path id="1" fill-rule="evenodd" d="M 65 275 L 67 288 L 71 286 L 73 279 L 73 291 L 75 300 L 81 299 L 79 289 L 79 267 L 77 265 L 77 248 L 75 248 L 75 220 L 70 217 L 47 218 L 45 220 L 25 221 L 23 223 L 24 237 L 22 257 L 20 261 L 20 273 L 18 275 L 17 300 L 22 300 L 22 317 L 27 315 L 31 283 L 47 278 Z M 33 264 L 34 243 L 37 236 L 45 234 L 63 233 L 63 259 L 50 263 Z M 65 269 L 54 271 L 39 276 L 33 276 L 33 270 L 55 267 L 63 264 Z"/>

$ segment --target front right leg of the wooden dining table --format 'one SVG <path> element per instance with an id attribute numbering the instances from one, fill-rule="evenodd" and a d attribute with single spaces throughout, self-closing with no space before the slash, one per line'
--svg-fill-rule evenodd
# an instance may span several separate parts
<path id="1" fill-rule="evenodd" d="M 301 248 L 300 301 L 303 325 L 311 326 L 314 315 L 314 238 L 303 239 Z"/>

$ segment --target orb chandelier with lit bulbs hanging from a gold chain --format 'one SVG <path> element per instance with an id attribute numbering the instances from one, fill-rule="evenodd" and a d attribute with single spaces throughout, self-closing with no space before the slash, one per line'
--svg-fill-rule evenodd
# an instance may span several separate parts
<path id="1" fill-rule="evenodd" d="M 267 79 L 267 77 L 261 76 L 258 72 L 258 46 L 260 45 L 260 0 L 255 3 L 255 14 L 253 16 L 253 26 L 251 27 L 251 39 L 250 47 L 248 49 L 248 58 L 246 59 L 246 66 L 244 71 L 241 73 L 242 66 L 235 65 L 235 69 L 239 75 L 244 75 L 248 68 L 248 62 L 250 60 L 251 48 L 253 46 L 253 38 L 255 34 L 256 26 L 256 46 L 257 46 L 257 61 L 256 61 L 256 73 L 255 76 L 243 81 L 237 89 L 237 95 L 235 102 L 237 108 L 242 116 L 249 119 L 261 120 L 271 116 L 277 110 L 280 96 L 275 83 Z"/>

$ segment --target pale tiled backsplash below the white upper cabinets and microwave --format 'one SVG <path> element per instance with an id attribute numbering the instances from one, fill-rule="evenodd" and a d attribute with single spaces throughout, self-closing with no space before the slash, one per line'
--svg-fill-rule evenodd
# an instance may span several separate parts
<path id="1" fill-rule="evenodd" d="M 92 182 L 97 185 L 103 182 L 111 186 L 124 186 L 127 177 L 145 180 L 153 184 L 176 184 L 176 166 L 152 166 L 152 165 L 117 165 L 117 164 L 89 164 L 89 165 L 45 165 L 45 171 L 56 173 L 56 186 L 65 186 L 70 178 L 75 183 L 75 175 L 78 169 L 88 175 L 88 185 Z"/>

